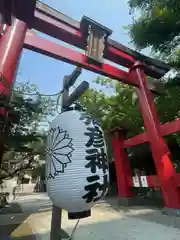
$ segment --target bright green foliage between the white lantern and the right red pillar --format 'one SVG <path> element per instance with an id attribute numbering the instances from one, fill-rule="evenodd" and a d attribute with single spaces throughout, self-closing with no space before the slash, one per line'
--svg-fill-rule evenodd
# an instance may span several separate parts
<path id="1" fill-rule="evenodd" d="M 133 87 L 103 77 L 95 82 L 112 94 L 89 89 L 79 100 L 87 112 L 100 119 L 106 132 L 115 127 L 127 129 L 128 136 L 142 132 L 143 122 Z"/>

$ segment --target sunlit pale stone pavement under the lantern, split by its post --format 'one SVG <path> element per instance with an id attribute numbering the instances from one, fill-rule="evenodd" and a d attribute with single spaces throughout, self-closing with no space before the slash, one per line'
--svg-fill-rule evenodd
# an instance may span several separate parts
<path id="1" fill-rule="evenodd" d="M 50 239 L 51 202 L 45 194 L 35 194 L 18 198 L 21 208 L 29 216 L 26 222 L 36 234 L 38 240 Z M 149 216 L 157 216 L 159 223 L 152 221 Z M 142 218 L 141 218 L 142 216 Z M 147 216 L 147 217 L 146 217 Z M 163 224 L 160 224 L 161 220 Z M 150 208 L 113 209 L 104 202 L 93 208 L 92 217 L 82 219 L 74 234 L 73 240 L 176 240 L 179 239 L 180 229 L 168 226 L 169 217 L 157 213 Z M 165 221 L 166 220 L 166 221 Z M 62 228 L 71 234 L 76 221 L 67 219 L 63 212 Z M 176 227 L 180 227 L 180 219 L 176 219 Z"/>

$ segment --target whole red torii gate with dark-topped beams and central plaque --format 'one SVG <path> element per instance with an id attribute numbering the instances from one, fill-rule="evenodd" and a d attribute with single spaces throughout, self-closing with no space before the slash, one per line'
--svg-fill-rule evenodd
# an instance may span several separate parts
<path id="1" fill-rule="evenodd" d="M 129 184 L 132 173 L 124 149 L 149 141 L 165 207 L 180 209 L 177 175 L 163 139 L 166 133 L 179 131 L 179 120 L 160 124 L 146 77 L 159 79 L 170 70 L 169 66 L 113 41 L 109 38 L 111 31 L 91 19 L 83 17 L 79 23 L 36 0 L 1 1 L 0 12 L 0 89 L 7 100 L 11 95 L 23 47 L 133 85 L 139 98 L 146 133 L 124 141 L 122 132 L 113 132 L 119 197 L 125 200 L 133 197 L 132 184 Z M 44 39 L 32 32 L 31 28 L 86 50 L 86 54 Z M 103 59 L 129 70 L 120 70 L 104 63 Z M 178 127 L 172 128 L 173 125 Z"/>

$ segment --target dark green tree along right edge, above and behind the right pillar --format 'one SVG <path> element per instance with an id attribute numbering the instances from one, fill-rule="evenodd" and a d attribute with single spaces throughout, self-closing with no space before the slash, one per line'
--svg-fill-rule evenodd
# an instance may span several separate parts
<path id="1" fill-rule="evenodd" d="M 139 50 L 150 47 L 154 56 L 168 62 L 173 70 L 173 74 L 165 79 L 165 94 L 155 99 L 160 120 L 165 123 L 179 118 L 180 2 L 129 0 L 129 6 L 134 17 L 133 24 L 129 26 L 132 43 Z M 179 134 L 168 136 L 167 141 L 173 152 L 176 151 L 174 159 L 178 160 Z"/>

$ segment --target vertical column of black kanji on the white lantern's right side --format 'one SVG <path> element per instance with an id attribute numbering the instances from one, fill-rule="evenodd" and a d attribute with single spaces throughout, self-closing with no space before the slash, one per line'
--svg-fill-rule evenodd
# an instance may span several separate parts
<path id="1" fill-rule="evenodd" d="M 84 187 L 84 190 L 87 193 L 82 197 L 87 203 L 90 203 L 100 200 L 106 193 L 108 187 L 108 160 L 105 151 L 104 136 L 99 124 L 95 120 L 92 120 L 86 113 L 81 115 L 80 120 L 83 120 L 87 126 L 87 130 L 84 133 L 85 136 L 88 136 L 85 156 L 87 164 L 85 167 L 89 168 L 91 173 L 94 174 L 86 178 L 88 184 Z M 98 170 L 104 173 L 103 182 L 100 176 L 97 175 Z"/>

